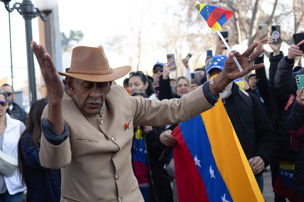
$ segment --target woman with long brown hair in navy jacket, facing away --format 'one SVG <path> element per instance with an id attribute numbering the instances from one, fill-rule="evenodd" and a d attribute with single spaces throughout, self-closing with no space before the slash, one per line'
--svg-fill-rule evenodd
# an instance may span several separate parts
<path id="1" fill-rule="evenodd" d="M 41 115 L 46 105 L 47 98 L 33 103 L 18 143 L 18 169 L 27 187 L 27 202 L 60 201 L 60 171 L 44 168 L 39 161 Z"/>

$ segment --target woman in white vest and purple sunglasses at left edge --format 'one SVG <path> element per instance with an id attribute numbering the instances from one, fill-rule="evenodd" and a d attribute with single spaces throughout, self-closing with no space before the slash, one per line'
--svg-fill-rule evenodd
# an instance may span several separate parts
<path id="1" fill-rule="evenodd" d="M 21 121 L 13 119 L 9 114 L 7 94 L 0 90 L 0 161 L 2 161 L 1 156 L 5 154 L 17 161 L 17 145 L 20 135 L 25 129 L 25 125 Z M 4 170 L 0 167 L 0 201 L 21 202 L 26 186 L 21 183 L 17 167 L 12 176 L 4 174 Z"/>

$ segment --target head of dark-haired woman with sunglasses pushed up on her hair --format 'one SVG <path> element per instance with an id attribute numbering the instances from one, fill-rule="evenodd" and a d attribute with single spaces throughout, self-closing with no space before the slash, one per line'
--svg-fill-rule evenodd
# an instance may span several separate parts
<path id="1" fill-rule="evenodd" d="M 143 91 L 149 97 L 153 93 L 153 84 L 142 71 L 131 72 L 129 78 L 129 91 L 133 94 L 136 91 Z"/>

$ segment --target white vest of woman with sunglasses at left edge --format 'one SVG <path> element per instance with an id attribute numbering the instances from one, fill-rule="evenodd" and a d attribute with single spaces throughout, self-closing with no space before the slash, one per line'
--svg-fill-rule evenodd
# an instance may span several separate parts
<path id="1" fill-rule="evenodd" d="M 2 151 L 12 157 L 18 159 L 18 141 L 20 139 L 20 121 L 13 119 L 8 113 L 6 116 L 6 128 L 3 134 Z M 22 186 L 22 182 L 17 171 L 11 177 L 4 176 L 6 188 L 10 195 L 17 194 L 26 190 L 26 186 Z"/>

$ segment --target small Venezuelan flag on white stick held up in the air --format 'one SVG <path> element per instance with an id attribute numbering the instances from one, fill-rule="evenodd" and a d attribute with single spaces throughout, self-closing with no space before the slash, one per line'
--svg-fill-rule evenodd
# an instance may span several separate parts
<path id="1" fill-rule="evenodd" d="M 196 9 L 205 18 L 211 31 L 219 31 L 227 20 L 233 16 L 233 12 L 207 4 L 195 4 Z"/>

